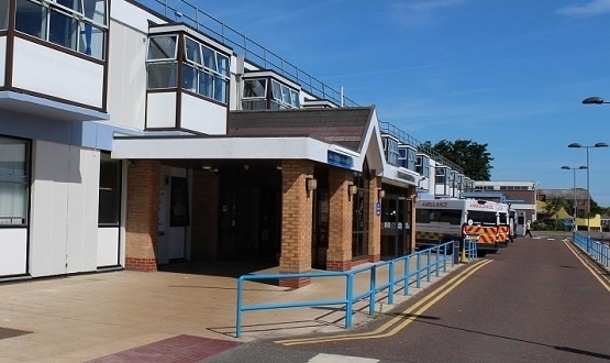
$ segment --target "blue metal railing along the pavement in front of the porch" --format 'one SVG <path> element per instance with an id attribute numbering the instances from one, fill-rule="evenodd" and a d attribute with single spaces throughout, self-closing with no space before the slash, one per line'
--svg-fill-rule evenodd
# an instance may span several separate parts
<path id="1" fill-rule="evenodd" d="M 404 296 L 409 295 L 411 284 L 417 288 L 421 287 L 422 279 L 425 278 L 430 282 L 432 276 L 439 277 L 441 273 L 446 273 L 447 264 L 453 266 L 456 262 L 456 253 L 454 251 L 454 242 L 443 243 L 426 250 L 418 251 L 409 255 L 400 256 L 398 258 L 378 262 L 370 266 L 355 268 L 347 272 L 320 272 L 320 273 L 303 273 L 303 274 L 268 274 L 268 275 L 243 275 L 237 280 L 237 308 L 235 317 L 235 338 L 242 336 L 242 316 L 245 311 L 256 310 L 273 310 L 299 307 L 321 307 L 330 305 L 345 306 L 345 328 L 352 327 L 352 315 L 354 305 L 358 301 L 368 301 L 368 315 L 375 314 L 375 304 L 378 299 L 378 294 L 387 294 L 387 304 L 393 304 L 395 294 L 402 290 Z M 476 257 L 476 243 L 474 248 L 468 244 L 468 260 Z M 473 253 L 474 251 L 474 253 Z M 425 261 L 424 261 L 425 258 Z M 414 262 L 415 270 L 413 271 L 411 264 Z M 397 267 L 402 267 L 401 272 L 397 272 Z M 381 268 L 387 268 L 388 278 L 386 282 L 379 282 L 379 272 Z M 355 278 L 358 275 L 368 273 L 368 289 L 357 293 L 355 290 Z M 298 279 L 298 278 L 329 278 L 329 277 L 344 277 L 345 278 L 345 295 L 342 298 L 323 299 L 323 300 L 307 300 L 307 301 L 287 301 L 276 304 L 244 304 L 244 283 L 245 282 L 260 282 L 260 280 L 275 280 L 275 279 Z M 365 284 L 367 285 L 367 284 Z M 381 297 L 382 299 L 382 297 Z"/>

